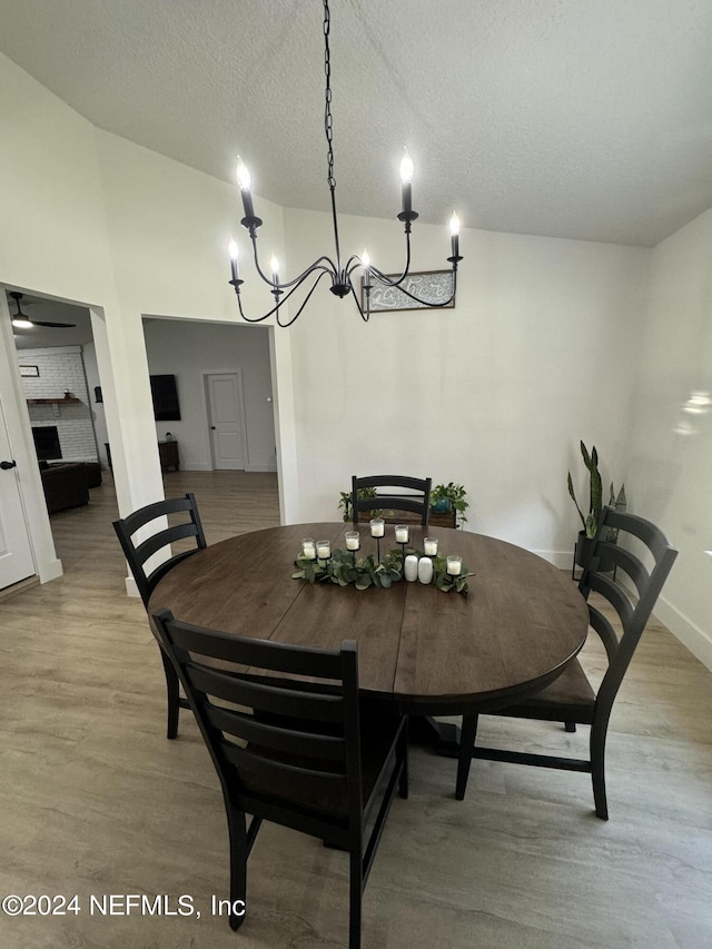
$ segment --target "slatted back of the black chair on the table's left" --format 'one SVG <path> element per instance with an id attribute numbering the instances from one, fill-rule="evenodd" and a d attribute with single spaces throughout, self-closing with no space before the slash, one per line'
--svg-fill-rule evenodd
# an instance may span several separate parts
<path id="1" fill-rule="evenodd" d="M 166 525 L 165 518 L 169 514 L 186 514 L 188 521 L 184 524 Z M 157 523 L 154 525 L 154 522 Z M 151 530 L 150 536 L 138 541 L 135 538 L 137 533 L 150 530 L 151 526 L 155 530 Z M 169 570 L 179 561 L 207 546 L 196 498 L 190 493 L 186 494 L 185 497 L 171 497 L 167 501 L 147 504 L 127 517 L 115 521 L 113 530 L 145 606 L 148 606 L 156 584 Z M 176 555 L 171 553 L 171 556 L 162 563 L 148 566 L 148 561 L 159 551 L 170 547 L 170 544 L 177 541 L 190 537 L 195 537 L 196 541 L 196 546 L 192 550 L 182 551 Z"/>

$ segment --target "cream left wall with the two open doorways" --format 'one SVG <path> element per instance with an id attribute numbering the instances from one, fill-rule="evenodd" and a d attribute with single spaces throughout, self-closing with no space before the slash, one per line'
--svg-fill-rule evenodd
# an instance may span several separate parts
<path id="1" fill-rule="evenodd" d="M 2 56 L 0 126 L 0 285 L 90 307 L 119 510 L 128 513 L 162 496 L 141 316 L 238 323 L 225 248 L 228 234 L 241 229 L 239 196 L 92 128 Z M 279 249 L 280 210 L 259 206 Z M 261 306 L 254 291 L 245 297 Z M 7 307 L 0 313 L 7 319 Z M 3 328 L 0 345 L 13 365 L 3 408 L 16 417 L 31 467 L 11 339 Z M 290 378 L 288 337 L 274 342 L 273 358 Z M 280 502 L 288 520 L 298 497 L 288 405 L 281 428 L 288 449 L 280 453 Z M 39 474 L 28 471 L 27 478 L 28 503 L 39 508 Z M 32 532 L 39 560 L 55 560 L 46 513 Z"/>

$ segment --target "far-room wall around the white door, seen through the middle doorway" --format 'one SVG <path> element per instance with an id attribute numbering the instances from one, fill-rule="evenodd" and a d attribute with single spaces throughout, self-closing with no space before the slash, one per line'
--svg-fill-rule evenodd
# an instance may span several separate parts
<path id="1" fill-rule="evenodd" d="M 150 373 L 176 376 L 180 421 L 157 422 L 156 433 L 162 439 L 170 431 L 178 441 L 180 466 L 212 469 L 205 375 L 239 369 L 247 423 L 245 469 L 276 471 L 268 330 L 152 319 L 145 322 L 144 333 Z"/>

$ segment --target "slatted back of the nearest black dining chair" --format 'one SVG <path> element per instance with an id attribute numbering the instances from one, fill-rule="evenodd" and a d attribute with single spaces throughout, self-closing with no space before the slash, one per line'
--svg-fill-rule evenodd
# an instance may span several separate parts
<path id="1" fill-rule="evenodd" d="M 284 817 L 304 810 L 305 801 L 318 812 L 326 794 L 355 823 L 362 810 L 356 643 L 319 650 L 207 630 L 169 611 L 152 619 L 233 799 L 250 813 L 263 801 Z"/>

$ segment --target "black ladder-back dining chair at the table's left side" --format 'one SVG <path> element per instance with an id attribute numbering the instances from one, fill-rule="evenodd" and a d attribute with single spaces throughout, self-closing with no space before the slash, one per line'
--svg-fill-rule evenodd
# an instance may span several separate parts
<path id="1" fill-rule="evenodd" d="M 185 516 L 186 520 L 184 523 L 167 526 L 165 518 L 169 514 L 179 514 Z M 113 530 L 117 533 L 123 555 L 146 609 L 148 609 L 148 601 L 158 581 L 166 576 L 176 564 L 195 554 L 196 551 L 207 546 L 198 506 L 192 494 L 147 504 L 146 507 L 135 511 L 128 517 L 115 521 Z M 135 535 L 139 531 L 142 534 L 136 540 Z M 155 565 L 152 562 L 149 564 L 151 557 L 164 550 L 164 547 L 169 547 L 170 544 L 186 540 L 195 543 L 195 546 L 175 555 L 171 554 L 169 558 L 164 560 L 158 565 Z M 187 709 L 188 703 L 180 696 L 176 670 L 162 650 L 161 659 L 166 674 L 168 702 L 167 735 L 169 739 L 174 739 L 178 734 L 179 711 L 181 708 Z"/>

